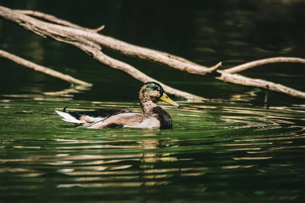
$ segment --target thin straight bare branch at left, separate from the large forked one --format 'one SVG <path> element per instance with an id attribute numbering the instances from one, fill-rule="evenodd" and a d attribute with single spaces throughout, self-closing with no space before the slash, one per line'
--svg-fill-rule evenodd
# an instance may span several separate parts
<path id="1" fill-rule="evenodd" d="M 85 86 L 92 86 L 92 84 L 90 84 L 90 83 L 78 80 L 78 79 L 73 78 L 69 75 L 62 74 L 58 71 L 54 71 L 52 69 L 49 69 L 48 67 L 44 67 L 42 65 L 35 64 L 31 61 L 25 60 L 23 58 L 20 58 L 16 55 L 10 54 L 10 53 L 8 53 L 6 51 L 3 51 L 3 50 L 0 50 L 0 57 L 10 59 L 10 60 L 12 60 L 12 61 L 14 61 L 14 62 L 16 62 L 20 65 L 28 67 L 29 69 L 33 69 L 35 71 L 47 74 L 47 75 L 55 77 L 55 78 L 62 79 L 64 81 L 67 81 L 67 82 L 70 82 L 70 83 L 74 83 L 74 84 L 78 84 L 78 85 L 85 85 Z"/>

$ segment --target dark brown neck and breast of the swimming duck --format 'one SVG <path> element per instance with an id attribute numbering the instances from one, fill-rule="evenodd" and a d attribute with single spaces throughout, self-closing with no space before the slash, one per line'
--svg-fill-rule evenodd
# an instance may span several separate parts
<path id="1" fill-rule="evenodd" d="M 141 102 L 144 114 L 157 118 L 160 121 L 160 129 L 172 128 L 172 120 L 170 115 L 162 108 L 157 106 L 153 101 L 148 100 Z"/>

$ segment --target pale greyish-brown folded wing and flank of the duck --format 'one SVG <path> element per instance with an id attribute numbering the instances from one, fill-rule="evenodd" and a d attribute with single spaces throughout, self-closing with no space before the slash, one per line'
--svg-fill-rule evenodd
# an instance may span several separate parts
<path id="1" fill-rule="evenodd" d="M 131 112 L 111 115 L 104 120 L 88 125 L 83 125 L 81 127 L 100 129 L 105 127 L 160 128 L 160 126 L 160 121 L 155 117 Z"/>

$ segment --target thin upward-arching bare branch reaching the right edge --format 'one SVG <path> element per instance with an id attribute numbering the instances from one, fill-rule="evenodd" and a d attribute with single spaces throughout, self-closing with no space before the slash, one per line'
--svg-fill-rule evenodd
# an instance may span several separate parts
<path id="1" fill-rule="evenodd" d="M 231 67 L 230 69 L 226 69 L 223 72 L 234 74 L 234 73 L 238 73 L 238 72 L 241 72 L 241 71 L 245 71 L 247 69 L 251 69 L 252 67 L 255 67 L 255 66 L 264 65 L 264 64 L 268 64 L 268 63 L 282 63 L 282 62 L 305 63 L 305 59 L 294 58 L 294 57 L 265 58 L 265 59 L 251 61 L 251 62 L 248 62 L 248 63 L 243 63 L 241 65 Z"/>

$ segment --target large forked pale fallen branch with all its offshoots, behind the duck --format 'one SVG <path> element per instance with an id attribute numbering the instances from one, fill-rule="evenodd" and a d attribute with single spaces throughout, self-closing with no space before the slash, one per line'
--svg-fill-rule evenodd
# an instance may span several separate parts
<path id="1" fill-rule="evenodd" d="M 36 17 L 47 19 L 51 22 L 55 22 L 57 24 L 44 22 L 27 15 L 33 15 Z M 94 56 L 98 61 L 120 71 L 124 71 L 125 73 L 131 75 L 135 79 L 141 82 L 147 82 L 150 80 L 154 80 L 144 73 L 137 70 L 135 67 L 111 58 L 101 52 L 101 47 L 106 47 L 111 50 L 117 51 L 119 53 L 138 57 L 141 59 L 162 63 L 173 67 L 174 69 L 185 71 L 192 74 L 202 75 L 202 76 L 210 76 L 215 77 L 218 80 L 224 82 L 230 82 L 238 85 L 252 86 L 268 89 L 271 91 L 277 91 L 281 93 L 285 93 L 287 95 L 305 98 L 305 93 L 283 86 L 281 84 L 275 84 L 269 81 L 264 81 L 260 79 L 252 79 L 245 76 L 241 76 L 238 74 L 234 74 L 246 69 L 249 69 L 254 66 L 267 64 L 267 63 L 275 63 L 275 62 L 301 62 L 305 63 L 304 59 L 301 58 L 287 58 L 287 57 L 276 57 L 269 59 L 262 59 L 259 61 L 253 61 L 249 63 L 245 63 L 242 65 L 238 65 L 226 70 L 218 70 L 221 66 L 221 63 L 218 63 L 212 67 L 206 67 L 199 64 L 196 64 L 192 61 L 184 59 L 182 57 L 178 57 L 169 53 L 156 51 L 136 45 L 132 45 L 108 36 L 101 35 L 96 33 L 97 31 L 93 31 L 92 29 L 84 28 L 68 21 L 64 21 L 58 19 L 54 16 L 43 14 L 40 12 L 29 12 L 29 11 L 14 11 L 5 7 L 0 7 L 0 16 L 7 20 L 11 20 L 20 26 L 23 26 L 25 29 L 31 30 L 42 37 L 53 38 L 60 42 L 65 42 L 68 44 L 72 44 L 83 51 L 90 53 Z M 61 24 L 61 25 L 58 25 Z M 97 30 L 97 29 L 96 29 Z M 157 81 L 158 82 L 158 81 Z M 176 96 L 182 96 L 186 98 L 195 98 L 195 99 L 203 99 L 200 96 L 196 96 L 194 94 L 190 94 L 188 92 L 183 92 L 172 87 L 166 86 L 162 84 L 164 89 Z"/>

